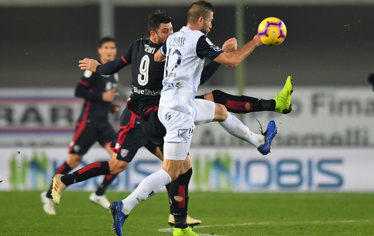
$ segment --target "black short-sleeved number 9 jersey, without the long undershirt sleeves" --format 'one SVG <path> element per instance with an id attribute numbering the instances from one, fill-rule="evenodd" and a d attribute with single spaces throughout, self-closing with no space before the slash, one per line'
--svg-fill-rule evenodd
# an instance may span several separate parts
<path id="1" fill-rule="evenodd" d="M 132 42 L 121 57 L 125 63 L 132 64 L 132 96 L 129 109 L 138 116 L 143 116 L 160 102 L 165 62 L 154 61 L 154 53 L 160 47 L 161 45 L 143 37 Z"/>

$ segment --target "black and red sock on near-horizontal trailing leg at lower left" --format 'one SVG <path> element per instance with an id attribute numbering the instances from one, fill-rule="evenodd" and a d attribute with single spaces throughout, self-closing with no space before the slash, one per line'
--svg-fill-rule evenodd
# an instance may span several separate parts
<path id="1" fill-rule="evenodd" d="M 93 162 L 86 165 L 82 169 L 62 176 L 61 181 L 66 186 L 69 186 L 70 184 L 79 183 L 95 176 L 101 176 L 102 174 L 110 174 L 109 164 L 107 161 Z"/>

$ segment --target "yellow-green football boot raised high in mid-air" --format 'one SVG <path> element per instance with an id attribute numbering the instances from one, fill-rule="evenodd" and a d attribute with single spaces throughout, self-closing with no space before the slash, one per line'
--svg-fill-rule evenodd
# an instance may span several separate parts
<path id="1" fill-rule="evenodd" d="M 277 92 L 275 100 L 275 112 L 288 114 L 292 111 L 291 94 L 294 91 L 294 82 L 291 76 L 287 77 L 286 84 L 280 93 Z"/>

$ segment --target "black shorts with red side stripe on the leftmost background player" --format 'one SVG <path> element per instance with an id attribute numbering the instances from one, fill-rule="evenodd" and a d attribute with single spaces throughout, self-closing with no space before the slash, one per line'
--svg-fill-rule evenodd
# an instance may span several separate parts
<path id="1" fill-rule="evenodd" d="M 84 155 L 96 141 L 104 147 L 115 136 L 116 132 L 109 123 L 103 127 L 91 127 L 86 124 L 77 125 L 73 141 L 70 144 L 69 153 Z"/>

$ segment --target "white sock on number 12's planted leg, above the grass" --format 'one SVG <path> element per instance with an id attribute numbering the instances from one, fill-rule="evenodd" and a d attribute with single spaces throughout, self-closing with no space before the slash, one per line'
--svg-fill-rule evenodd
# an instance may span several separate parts
<path id="1" fill-rule="evenodd" d="M 169 183 L 171 183 L 171 177 L 162 169 L 145 177 L 138 187 L 127 198 L 122 200 L 122 212 L 128 215 L 139 202 L 155 195 L 163 186 Z"/>

